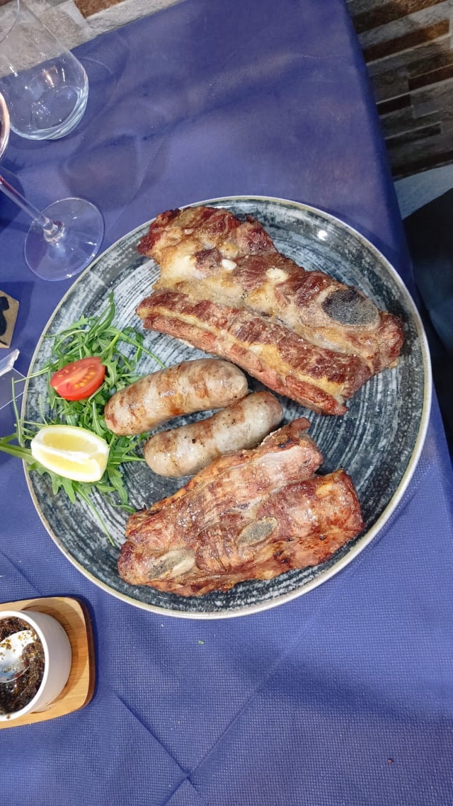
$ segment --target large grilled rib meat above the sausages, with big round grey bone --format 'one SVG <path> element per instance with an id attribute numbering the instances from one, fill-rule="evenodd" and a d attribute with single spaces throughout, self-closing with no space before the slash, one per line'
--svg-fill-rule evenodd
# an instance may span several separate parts
<path id="1" fill-rule="evenodd" d="M 231 360 L 268 388 L 316 412 L 344 401 L 392 367 L 402 345 L 397 317 L 323 272 L 276 251 L 252 218 L 205 206 L 152 222 L 141 254 L 160 264 L 143 325 Z"/>

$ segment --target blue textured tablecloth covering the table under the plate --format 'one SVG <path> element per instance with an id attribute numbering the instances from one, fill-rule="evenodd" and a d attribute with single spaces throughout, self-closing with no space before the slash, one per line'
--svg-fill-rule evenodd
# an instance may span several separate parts
<path id="1" fill-rule="evenodd" d="M 36 206 L 88 197 L 108 247 L 189 202 L 290 198 L 355 226 L 411 286 L 343 0 L 185 0 L 75 52 L 90 81 L 77 131 L 11 135 L 3 161 Z M 22 372 L 70 285 L 27 270 L 27 226 L 0 200 L 0 287 L 20 302 Z M 0 424 L 10 432 L 9 409 Z M 44 530 L 19 460 L 0 467 L 0 600 L 81 597 L 97 650 L 90 704 L 0 731 L 8 803 L 453 801 L 451 465 L 435 400 L 414 477 L 372 543 L 305 596 L 235 619 L 160 616 L 102 591 Z"/>

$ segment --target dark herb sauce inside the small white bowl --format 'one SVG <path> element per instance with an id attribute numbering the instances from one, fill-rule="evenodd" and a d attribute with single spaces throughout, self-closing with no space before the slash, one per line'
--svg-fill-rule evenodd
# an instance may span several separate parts
<path id="1" fill-rule="evenodd" d="M 21 618 L 0 617 L 0 642 L 9 635 L 33 628 Z M 38 691 L 44 675 L 44 648 L 34 633 L 35 640 L 24 646 L 23 665 L 27 669 L 10 683 L 0 683 L 0 713 L 16 713 L 30 702 Z"/>

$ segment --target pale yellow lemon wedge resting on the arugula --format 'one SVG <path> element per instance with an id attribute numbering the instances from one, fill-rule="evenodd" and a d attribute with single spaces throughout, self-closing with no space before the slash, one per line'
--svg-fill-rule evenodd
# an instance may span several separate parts
<path id="1" fill-rule="evenodd" d="M 30 447 L 33 458 L 46 470 L 73 481 L 98 481 L 109 456 L 105 439 L 78 426 L 44 426 Z"/>

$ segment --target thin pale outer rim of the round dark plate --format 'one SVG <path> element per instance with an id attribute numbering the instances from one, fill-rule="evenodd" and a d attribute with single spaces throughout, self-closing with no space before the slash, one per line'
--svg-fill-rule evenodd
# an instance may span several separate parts
<path id="1" fill-rule="evenodd" d="M 122 592 L 115 591 L 113 588 L 102 580 L 98 580 L 94 574 L 88 571 L 81 563 L 77 562 L 77 559 L 70 554 L 70 552 L 66 549 L 64 544 L 58 538 L 46 517 L 44 517 L 44 513 L 42 512 L 39 501 L 37 496 L 35 495 L 35 491 L 31 485 L 31 480 L 29 476 L 29 472 L 27 469 L 27 463 L 23 462 L 23 469 L 25 473 L 25 477 L 27 480 L 27 487 L 31 495 L 31 500 L 35 505 L 36 512 L 39 515 L 41 522 L 43 523 L 45 529 L 48 531 L 48 534 L 52 538 L 52 540 L 56 543 L 56 546 L 60 549 L 66 559 L 77 568 L 78 571 L 81 572 L 82 575 L 85 576 L 86 579 L 93 582 L 98 588 L 101 588 L 106 593 L 109 593 L 110 596 L 114 596 L 115 598 L 122 600 L 123 602 L 127 603 L 128 605 L 133 605 L 139 609 L 148 610 L 148 612 L 159 614 L 160 616 L 171 616 L 173 618 L 186 618 L 186 619 L 197 619 L 205 621 L 206 619 L 224 619 L 224 618 L 236 618 L 240 616 L 249 616 L 254 613 L 261 613 L 264 610 L 268 610 L 271 608 L 278 607 L 280 605 L 284 605 L 286 602 L 289 602 L 293 599 L 297 599 L 299 596 L 304 595 L 305 593 L 310 592 L 314 588 L 318 588 L 319 585 L 329 580 L 332 576 L 335 576 L 339 573 L 339 571 L 343 571 L 347 565 L 349 565 L 352 560 L 354 560 L 369 543 L 372 542 L 376 535 L 383 529 L 389 518 L 393 515 L 393 512 L 397 508 L 397 505 L 401 501 L 402 496 L 409 485 L 412 476 L 414 476 L 415 468 L 417 467 L 418 460 L 420 459 L 420 455 L 422 453 L 422 448 L 426 438 L 426 431 L 428 429 L 428 425 L 430 422 L 430 407 L 431 407 L 431 397 L 432 397 L 432 372 L 431 372 L 431 364 L 430 364 L 430 351 L 428 347 L 428 342 L 426 339 L 425 330 L 422 325 L 422 319 L 418 314 L 417 307 L 414 303 L 413 298 L 411 297 L 409 290 L 406 288 L 405 283 L 401 280 L 401 277 L 397 273 L 396 269 L 393 268 L 393 265 L 387 260 L 386 257 L 377 249 L 364 235 L 362 235 L 355 227 L 351 226 L 347 222 L 344 222 L 343 219 L 338 218 L 330 213 L 327 213 L 325 210 L 320 210 L 314 206 L 303 204 L 302 202 L 293 202 L 289 199 L 283 199 L 280 197 L 272 197 L 272 196 L 262 196 L 262 195 L 242 195 L 242 196 L 224 196 L 224 197 L 216 197 L 211 199 L 206 199 L 200 202 L 192 202 L 189 205 L 184 205 L 184 207 L 194 207 L 200 205 L 210 205 L 210 204 L 222 204 L 226 202 L 241 202 L 241 201 L 251 201 L 251 202 L 272 202 L 282 206 L 291 206 L 297 207 L 301 211 L 305 211 L 307 213 L 312 213 L 318 215 L 320 218 L 325 218 L 326 222 L 335 223 L 343 228 L 345 228 L 351 235 L 353 235 L 368 249 L 371 251 L 376 260 L 380 263 L 385 265 L 385 268 L 389 272 L 389 274 L 393 277 L 393 281 L 400 289 L 402 296 L 405 298 L 405 303 L 407 305 L 407 309 L 409 313 L 414 319 L 414 325 L 417 330 L 418 339 L 420 340 L 420 347 L 422 351 L 422 364 L 423 364 L 423 377 L 424 377 L 424 384 L 423 384 L 423 402 L 422 402 L 422 413 L 420 417 L 420 423 L 418 427 L 418 435 L 414 442 L 414 450 L 412 451 L 411 457 L 409 459 L 409 463 L 405 469 L 405 472 L 401 476 L 400 483 L 398 484 L 393 496 L 390 498 L 389 503 L 386 505 L 380 516 L 377 518 L 375 523 L 372 525 L 370 529 L 361 537 L 357 542 L 355 542 L 354 546 L 351 547 L 351 550 L 347 552 L 346 555 L 339 558 L 339 560 L 334 563 L 329 568 L 326 568 L 326 571 L 321 571 L 313 580 L 309 580 L 302 585 L 301 588 L 297 588 L 293 591 L 289 591 L 286 593 L 281 594 L 280 596 L 269 599 L 263 600 L 260 602 L 256 602 L 251 605 L 244 606 L 243 608 L 237 608 L 234 610 L 223 610 L 223 611 L 213 611 L 210 613 L 199 613 L 199 612 L 185 612 L 185 611 L 176 611 L 172 609 L 166 609 L 164 607 L 160 607 L 158 605 L 152 605 L 148 602 L 142 602 L 140 600 L 134 599 L 131 596 L 126 596 Z M 181 206 L 183 207 L 183 206 Z M 53 310 L 51 316 L 48 318 L 48 322 L 44 326 L 44 330 L 39 337 L 39 341 L 36 344 L 35 351 L 31 357 L 30 366 L 35 364 L 35 359 L 39 353 L 39 349 L 41 344 L 44 340 L 44 335 L 46 334 L 48 327 L 51 325 L 53 318 L 56 316 L 57 312 L 60 308 L 65 304 L 66 299 L 73 293 L 74 286 L 83 280 L 84 276 L 93 269 L 93 267 L 104 258 L 108 253 L 114 251 L 118 244 L 121 243 L 123 238 L 130 237 L 134 235 L 135 232 L 139 232 L 143 230 L 143 227 L 149 226 L 149 224 L 154 220 L 154 218 L 150 219 L 148 222 L 143 222 L 136 226 L 134 230 L 131 230 L 127 233 L 127 235 L 123 235 L 117 241 L 111 244 L 105 251 L 103 251 L 98 257 L 91 263 L 83 272 L 81 272 L 80 276 L 77 277 L 77 280 L 70 286 L 68 291 L 64 294 L 62 299 L 60 300 L 59 304 Z M 22 413 L 25 409 L 26 402 L 27 402 L 27 390 L 28 390 L 28 381 L 24 384 L 23 390 L 23 401 L 22 401 Z"/>

